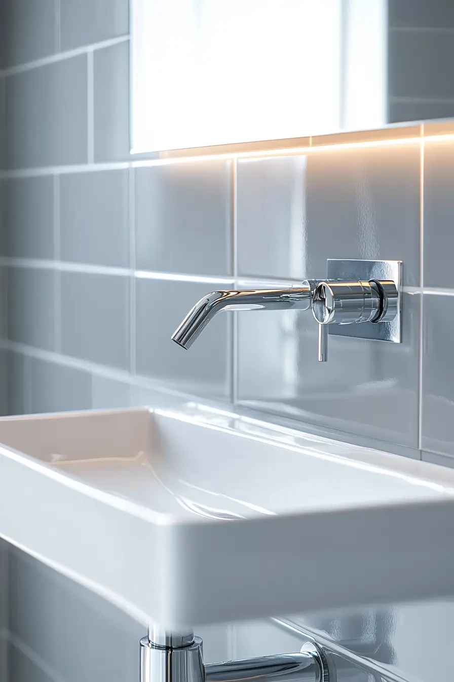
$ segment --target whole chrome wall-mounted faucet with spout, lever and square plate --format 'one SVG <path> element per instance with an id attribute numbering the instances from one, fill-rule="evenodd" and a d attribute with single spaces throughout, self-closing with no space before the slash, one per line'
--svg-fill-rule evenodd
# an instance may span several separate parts
<path id="1" fill-rule="evenodd" d="M 312 309 L 319 324 L 320 362 L 327 361 L 328 331 L 335 336 L 400 343 L 401 270 L 401 261 L 330 259 L 323 281 L 305 280 L 289 289 L 213 291 L 189 311 L 172 340 L 189 349 L 221 310 Z"/>

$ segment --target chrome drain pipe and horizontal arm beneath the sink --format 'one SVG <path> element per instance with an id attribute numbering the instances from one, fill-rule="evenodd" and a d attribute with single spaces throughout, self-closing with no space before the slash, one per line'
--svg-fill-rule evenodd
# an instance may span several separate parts
<path id="1" fill-rule="evenodd" d="M 158 635 L 159 642 L 174 644 L 191 637 L 191 643 L 180 647 L 157 644 L 149 636 L 140 640 L 140 682 L 335 682 L 323 650 L 314 642 L 306 642 L 299 653 L 204 666 L 201 638 Z"/>

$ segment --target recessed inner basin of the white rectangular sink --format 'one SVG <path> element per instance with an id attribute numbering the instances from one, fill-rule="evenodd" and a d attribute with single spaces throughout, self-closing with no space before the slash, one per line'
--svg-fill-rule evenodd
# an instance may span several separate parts
<path id="1" fill-rule="evenodd" d="M 0 442 L 162 514 L 161 522 L 392 505 L 452 492 L 446 481 L 417 475 L 410 460 L 387 469 L 387 457 L 400 458 L 339 443 L 341 454 L 332 454 L 323 439 L 273 439 L 218 421 L 148 409 L 39 415 L 0 420 Z"/>

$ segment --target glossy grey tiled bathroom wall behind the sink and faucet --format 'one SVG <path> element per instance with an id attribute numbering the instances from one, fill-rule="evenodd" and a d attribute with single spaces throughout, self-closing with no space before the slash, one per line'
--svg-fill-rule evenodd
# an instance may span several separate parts
<path id="1" fill-rule="evenodd" d="M 4 0 L 1 12 L 3 412 L 197 396 L 451 466 L 454 142 L 131 158 L 127 0 Z M 218 316 L 189 353 L 169 341 L 206 291 L 320 278 L 327 257 L 402 258 L 400 346 L 330 338 L 320 366 L 312 318 L 295 312 Z M 10 682 L 137 679 L 142 624 L 19 550 L 1 557 Z M 374 659 L 375 677 L 346 680 L 429 682 L 427 642 L 449 651 L 452 616 L 444 602 L 292 621 Z M 217 659 L 296 647 L 283 632 L 201 634 Z"/>

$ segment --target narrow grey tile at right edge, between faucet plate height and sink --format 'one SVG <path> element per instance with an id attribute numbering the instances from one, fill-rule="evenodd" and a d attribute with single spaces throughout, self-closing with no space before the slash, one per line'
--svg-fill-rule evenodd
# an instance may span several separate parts
<path id="1" fill-rule="evenodd" d="M 424 296 L 421 447 L 454 455 L 454 297 Z"/>

